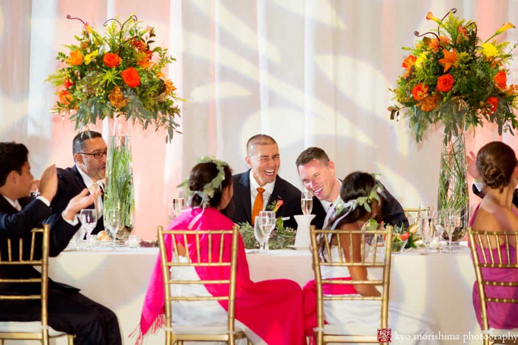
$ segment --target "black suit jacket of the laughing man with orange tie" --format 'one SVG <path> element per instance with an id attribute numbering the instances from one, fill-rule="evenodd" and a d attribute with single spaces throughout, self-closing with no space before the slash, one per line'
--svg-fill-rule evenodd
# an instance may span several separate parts
<path id="1" fill-rule="evenodd" d="M 223 210 L 235 223 L 252 223 L 252 200 L 250 197 L 250 170 L 232 176 L 234 186 L 234 196 L 231 202 Z M 270 205 L 276 200 L 283 200 L 284 204 L 277 211 L 277 217 L 290 217 L 284 221 L 284 227 L 297 229 L 297 222 L 294 215 L 301 215 L 300 190 L 277 175 L 274 190 L 266 205 Z"/>

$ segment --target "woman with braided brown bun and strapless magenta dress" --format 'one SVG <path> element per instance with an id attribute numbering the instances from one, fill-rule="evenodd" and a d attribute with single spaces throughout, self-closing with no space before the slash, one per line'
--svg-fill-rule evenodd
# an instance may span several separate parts
<path id="1" fill-rule="evenodd" d="M 513 206 L 514 188 L 518 183 L 518 160 L 514 151 L 502 142 L 491 142 L 484 145 L 477 154 L 477 169 L 484 184 L 484 198 L 473 212 L 470 226 L 479 231 L 518 231 L 518 211 Z M 514 236 L 509 237 L 514 243 Z M 496 243 L 491 243 L 495 263 L 498 262 Z M 507 264 L 507 247 L 500 246 L 503 264 Z M 482 249 L 477 248 L 479 257 Z M 486 258 L 490 258 L 490 250 L 485 249 Z M 509 245 L 509 263 L 516 264 L 516 251 Z M 517 269 L 482 268 L 485 280 L 518 282 Z M 488 297 L 518 298 L 518 287 L 487 286 Z M 482 327 L 482 313 L 477 282 L 473 283 L 473 308 L 477 321 Z M 518 305 L 513 303 L 487 303 L 487 318 L 491 328 L 518 328 Z"/>

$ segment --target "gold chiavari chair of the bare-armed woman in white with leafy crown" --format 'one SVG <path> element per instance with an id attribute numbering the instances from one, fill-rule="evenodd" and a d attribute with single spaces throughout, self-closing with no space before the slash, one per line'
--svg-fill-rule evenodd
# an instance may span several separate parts
<path id="1" fill-rule="evenodd" d="M 392 226 L 387 226 L 386 230 L 376 231 L 347 231 L 347 230 L 316 230 L 311 227 L 311 247 L 313 251 L 314 274 L 316 282 L 316 328 L 315 335 L 318 345 L 327 343 L 380 343 L 376 332 L 377 329 L 362 329 L 362 331 L 352 331 L 342 325 L 324 325 L 324 301 L 380 301 L 380 328 L 388 328 L 389 322 L 389 285 L 391 267 L 391 247 L 392 247 Z M 332 246 L 329 242 L 328 234 L 337 234 L 338 258 L 332 256 Z M 373 236 L 372 247 L 374 248 L 372 257 L 367 260 L 365 253 L 366 235 Z M 377 261 L 377 245 L 379 235 L 385 236 L 385 253 L 382 261 Z M 341 246 L 343 237 L 349 237 L 350 260 L 346 261 L 346 256 Z M 361 236 L 361 261 L 353 259 L 353 236 Z M 322 238 L 325 245 L 325 254 L 328 261 L 323 261 L 319 254 L 317 237 Z M 381 268 L 383 270 L 380 280 L 334 280 L 322 279 L 321 267 L 351 267 L 362 266 L 365 268 Z M 369 284 L 381 286 L 383 291 L 381 296 L 351 296 L 351 295 L 323 295 L 322 284 Z M 346 326 L 346 325 L 344 325 Z M 361 328 L 361 327 L 360 327 Z M 370 333 L 370 334 L 366 334 Z M 388 343 L 387 343 L 388 344 Z"/>

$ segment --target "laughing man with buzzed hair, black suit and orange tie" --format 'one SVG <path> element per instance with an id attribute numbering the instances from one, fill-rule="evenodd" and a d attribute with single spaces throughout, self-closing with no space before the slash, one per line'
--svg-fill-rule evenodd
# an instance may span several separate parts
<path id="1" fill-rule="evenodd" d="M 282 200 L 276 217 L 285 218 L 284 227 L 297 229 L 293 216 L 302 214 L 301 192 L 277 174 L 281 159 L 274 138 L 266 134 L 256 134 L 250 138 L 245 160 L 250 169 L 232 176 L 234 196 L 224 213 L 235 223 L 253 224 L 260 211 Z"/>

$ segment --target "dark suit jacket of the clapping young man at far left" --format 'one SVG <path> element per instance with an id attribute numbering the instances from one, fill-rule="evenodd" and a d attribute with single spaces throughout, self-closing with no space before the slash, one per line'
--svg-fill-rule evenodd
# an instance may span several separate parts
<path id="1" fill-rule="evenodd" d="M 44 202 L 30 197 L 18 199 L 22 211 L 16 208 L 0 195 L 0 251 L 2 260 L 7 260 L 7 239 L 11 238 L 12 259 L 19 259 L 19 238 L 23 238 L 23 257 L 28 259 L 31 252 L 31 230 L 41 228 L 42 221 L 52 214 L 51 209 Z M 79 224 L 71 226 L 61 214 L 56 218 L 49 235 L 49 256 L 56 257 L 66 248 L 68 242 L 79 229 Z M 34 258 L 41 258 L 41 234 L 36 236 Z M 32 266 L 0 265 L 0 278 L 39 278 L 40 273 Z M 56 283 L 49 279 L 49 289 L 77 292 L 66 284 Z M 0 283 L 0 291 L 6 294 L 38 293 L 39 284 Z"/>

